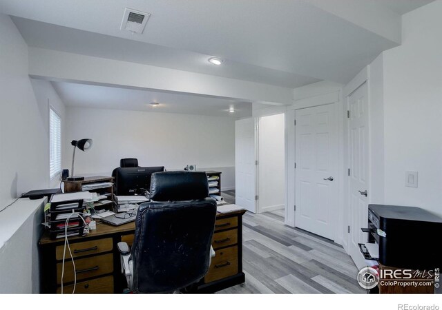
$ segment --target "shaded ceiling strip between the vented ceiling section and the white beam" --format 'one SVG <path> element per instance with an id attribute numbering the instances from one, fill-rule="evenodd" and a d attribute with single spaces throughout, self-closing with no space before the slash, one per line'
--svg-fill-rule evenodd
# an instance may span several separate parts
<path id="1" fill-rule="evenodd" d="M 17 25 L 26 43 L 35 48 L 144 63 L 146 65 L 289 88 L 320 81 L 309 76 L 301 76 L 237 61 L 225 61 L 223 65 L 214 66 L 207 61 L 211 55 L 111 37 L 106 34 L 87 32 L 19 17 L 12 17 L 12 20 Z"/>

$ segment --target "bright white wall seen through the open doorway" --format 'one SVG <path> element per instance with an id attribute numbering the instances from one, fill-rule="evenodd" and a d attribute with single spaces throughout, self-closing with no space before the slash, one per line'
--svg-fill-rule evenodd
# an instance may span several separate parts
<path id="1" fill-rule="evenodd" d="M 285 114 L 263 116 L 259 123 L 259 212 L 285 205 Z"/>

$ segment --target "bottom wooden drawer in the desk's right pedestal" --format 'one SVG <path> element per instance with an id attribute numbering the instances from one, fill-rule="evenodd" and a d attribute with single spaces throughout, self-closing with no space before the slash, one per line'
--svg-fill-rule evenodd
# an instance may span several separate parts
<path id="1" fill-rule="evenodd" d="M 209 283 L 238 273 L 238 247 L 227 247 L 215 251 L 209 272 L 204 277 L 204 282 Z"/>

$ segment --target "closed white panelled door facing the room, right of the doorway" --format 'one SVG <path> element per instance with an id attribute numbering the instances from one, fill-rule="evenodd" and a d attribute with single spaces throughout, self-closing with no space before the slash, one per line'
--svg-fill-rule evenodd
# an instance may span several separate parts
<path id="1" fill-rule="evenodd" d="M 296 110 L 295 225 L 335 239 L 338 123 L 334 104 Z"/>

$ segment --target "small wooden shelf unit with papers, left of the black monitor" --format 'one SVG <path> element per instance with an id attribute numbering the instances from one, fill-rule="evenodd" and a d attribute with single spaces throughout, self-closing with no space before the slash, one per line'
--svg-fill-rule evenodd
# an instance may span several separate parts
<path id="1" fill-rule="evenodd" d="M 88 176 L 84 180 L 64 180 L 64 192 L 81 192 L 84 185 L 93 185 L 97 183 L 113 183 L 112 176 Z M 113 209 L 113 185 L 107 187 L 88 189 L 88 192 L 95 192 L 99 195 L 106 195 L 106 198 L 98 200 L 93 204 L 96 209 Z"/>

